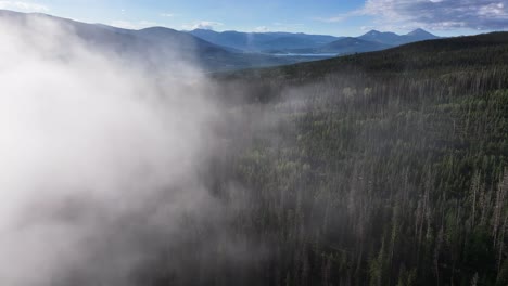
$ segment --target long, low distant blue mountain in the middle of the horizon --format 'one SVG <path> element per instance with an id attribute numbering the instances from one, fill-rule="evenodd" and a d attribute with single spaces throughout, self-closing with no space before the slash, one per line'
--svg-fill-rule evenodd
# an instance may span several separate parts
<path id="1" fill-rule="evenodd" d="M 242 32 L 233 30 L 217 32 L 207 29 L 194 29 L 188 32 L 218 46 L 250 52 L 317 48 L 342 38 L 302 32 Z"/>

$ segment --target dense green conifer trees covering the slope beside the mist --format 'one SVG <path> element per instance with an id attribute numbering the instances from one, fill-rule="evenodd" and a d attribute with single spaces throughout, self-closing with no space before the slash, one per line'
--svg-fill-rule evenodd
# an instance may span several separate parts
<path id="1" fill-rule="evenodd" d="M 508 202 L 498 184 L 508 166 L 507 34 L 227 78 L 277 87 L 264 89 L 264 106 L 277 102 L 276 112 L 296 127 L 277 146 L 255 151 L 265 160 L 245 156 L 239 169 L 251 178 L 246 188 L 279 194 L 277 204 L 258 206 L 280 213 L 276 257 L 315 246 L 315 280 L 300 284 L 506 280 Z M 284 87 L 301 87 L 301 94 L 284 94 Z M 303 109 L 292 109 L 294 96 Z M 254 194 L 254 205 L 274 199 Z"/>

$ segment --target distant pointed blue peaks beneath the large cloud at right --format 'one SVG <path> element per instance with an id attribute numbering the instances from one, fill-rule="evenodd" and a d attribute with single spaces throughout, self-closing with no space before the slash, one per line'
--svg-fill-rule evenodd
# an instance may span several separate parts
<path id="1" fill-rule="evenodd" d="M 365 35 L 358 37 L 358 39 L 367 40 L 367 41 L 374 41 L 380 43 L 385 43 L 390 46 L 399 46 L 410 42 L 423 41 L 423 40 L 435 40 L 440 37 L 432 35 L 423 29 L 416 29 L 410 31 L 406 35 L 397 35 L 395 32 L 390 31 L 378 31 L 371 30 Z"/>

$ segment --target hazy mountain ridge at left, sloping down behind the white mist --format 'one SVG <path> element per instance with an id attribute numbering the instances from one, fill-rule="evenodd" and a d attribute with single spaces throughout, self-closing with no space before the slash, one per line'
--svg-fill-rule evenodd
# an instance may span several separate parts
<path id="1" fill-rule="evenodd" d="M 18 13 L 0 10 L 2 25 L 24 25 L 28 21 L 45 20 L 72 31 L 91 49 L 116 53 L 147 68 L 164 69 L 176 63 L 191 62 L 205 70 L 224 70 L 255 66 L 290 64 L 302 58 L 246 54 L 220 47 L 187 32 L 152 27 L 130 30 L 102 24 L 86 24 L 40 13 Z M 42 32 L 51 32 L 42 30 Z"/>

